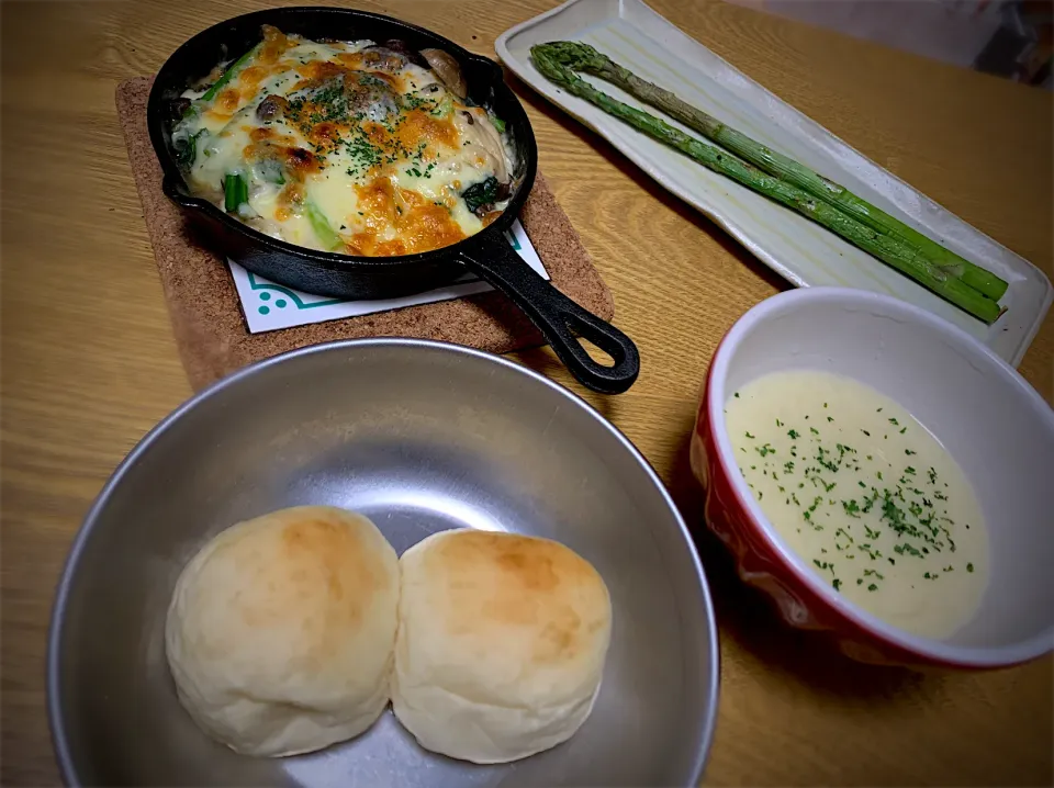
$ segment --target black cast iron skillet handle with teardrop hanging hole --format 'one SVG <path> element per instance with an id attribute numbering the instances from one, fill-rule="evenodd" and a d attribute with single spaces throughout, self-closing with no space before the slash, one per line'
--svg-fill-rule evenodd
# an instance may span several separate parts
<path id="1" fill-rule="evenodd" d="M 640 353 L 629 337 L 535 273 L 503 233 L 481 233 L 472 240 L 460 245 L 469 248 L 459 249 L 459 261 L 527 314 L 582 385 L 603 394 L 621 394 L 633 384 L 640 372 Z M 572 331 L 608 353 L 614 365 L 604 367 L 591 359 Z"/>

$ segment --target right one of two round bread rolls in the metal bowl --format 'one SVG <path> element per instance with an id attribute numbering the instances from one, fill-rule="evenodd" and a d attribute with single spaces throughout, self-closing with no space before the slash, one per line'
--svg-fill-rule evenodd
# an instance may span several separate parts
<path id="1" fill-rule="evenodd" d="M 570 739 L 610 641 L 596 570 L 557 542 L 473 530 L 431 536 L 400 563 L 392 707 L 421 745 L 495 764 Z"/>

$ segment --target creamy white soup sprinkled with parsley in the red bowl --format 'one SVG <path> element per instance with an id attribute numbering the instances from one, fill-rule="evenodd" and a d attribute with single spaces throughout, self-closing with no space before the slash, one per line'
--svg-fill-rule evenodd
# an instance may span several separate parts
<path id="1" fill-rule="evenodd" d="M 790 548 L 850 601 L 927 638 L 976 612 L 988 581 L 977 497 L 904 407 L 848 378 L 764 375 L 726 403 L 740 470 Z"/>

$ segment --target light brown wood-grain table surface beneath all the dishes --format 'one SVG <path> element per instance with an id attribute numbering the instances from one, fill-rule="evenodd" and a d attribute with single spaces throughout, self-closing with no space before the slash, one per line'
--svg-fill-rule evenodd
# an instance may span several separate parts
<path id="1" fill-rule="evenodd" d="M 502 31 L 556 1 L 355 4 L 493 55 Z M 9 151 L 0 191 L 0 785 L 58 785 L 43 662 L 63 560 L 108 474 L 191 393 L 114 87 L 156 70 L 202 27 L 271 4 L 37 0 L 0 10 L 0 149 Z M 651 4 L 1054 275 L 1054 95 L 718 1 Z M 783 285 L 606 143 L 515 87 L 541 168 L 615 294 L 616 323 L 640 346 L 633 389 L 588 398 L 700 529 L 685 451 L 699 383 L 725 330 Z M 572 385 L 548 351 L 520 358 Z M 1054 320 L 1021 370 L 1054 397 Z M 714 542 L 698 543 L 721 629 L 707 785 L 1054 785 L 1054 660 L 984 675 L 855 665 L 780 627 Z"/>

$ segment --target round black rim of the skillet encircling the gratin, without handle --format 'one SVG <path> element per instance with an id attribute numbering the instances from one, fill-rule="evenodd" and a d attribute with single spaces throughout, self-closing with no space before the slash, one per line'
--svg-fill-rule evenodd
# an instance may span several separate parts
<path id="1" fill-rule="evenodd" d="M 264 24 L 272 24 L 276 22 L 276 15 L 340 15 L 352 19 L 363 19 L 372 21 L 381 21 L 393 24 L 396 27 L 402 27 L 403 30 L 412 31 L 414 33 L 424 35 L 426 37 L 435 40 L 437 43 L 441 44 L 442 47 L 451 54 L 459 64 L 464 63 L 474 63 L 479 64 L 483 68 L 490 70 L 491 77 L 487 81 L 487 85 L 491 86 L 495 93 L 498 91 L 505 91 L 505 103 L 508 109 L 512 109 L 515 114 L 515 119 L 511 119 L 508 113 L 505 114 L 506 121 L 513 121 L 517 131 L 526 132 L 524 134 L 523 144 L 525 147 L 525 161 L 523 169 L 523 177 L 520 178 L 519 184 L 516 188 L 516 191 L 513 193 L 513 196 L 508 201 L 508 205 L 502 212 L 502 215 L 498 216 L 494 222 L 484 227 L 482 230 L 475 235 L 471 235 L 468 238 L 462 238 L 457 244 L 451 244 L 449 246 L 439 247 L 438 249 L 430 249 L 428 251 L 422 251 L 414 255 L 397 255 L 391 257 L 360 257 L 355 255 L 341 255 L 330 251 L 322 251 L 316 249 L 309 249 L 303 246 L 298 246 L 295 244 L 290 244 L 289 241 L 281 240 L 279 238 L 273 238 L 269 235 L 266 235 L 258 229 L 255 229 L 247 224 L 239 222 L 238 219 L 229 216 L 225 211 L 221 211 L 216 205 L 213 205 L 211 202 L 203 198 L 195 198 L 189 193 L 184 193 L 181 190 L 186 189 L 186 180 L 183 175 L 179 169 L 179 166 L 176 162 L 176 158 L 168 145 L 166 138 L 166 117 L 165 117 L 165 102 L 166 98 L 164 95 L 166 88 L 173 83 L 178 83 L 180 80 L 173 78 L 169 72 L 176 69 L 175 61 L 179 59 L 181 53 L 186 53 L 188 49 L 193 49 L 195 45 L 200 44 L 206 38 L 216 36 L 220 33 L 224 32 L 225 29 L 232 25 L 247 25 L 255 23 L 257 26 Z M 278 25 L 276 25 L 278 26 Z M 205 68 L 204 72 L 208 72 L 209 69 L 213 68 L 215 64 L 210 64 Z M 535 176 L 538 167 L 538 145 L 535 139 L 534 128 L 530 125 L 530 120 L 527 117 L 527 113 L 520 104 L 519 99 L 516 98 L 516 94 L 513 92 L 512 88 L 505 82 L 504 72 L 502 67 L 492 60 L 489 57 L 483 55 L 475 55 L 462 46 L 455 44 L 449 38 L 435 33 L 427 27 L 422 27 L 419 25 L 405 22 L 401 19 L 394 16 L 388 16 L 385 14 L 372 13 L 370 11 L 360 11 L 357 9 L 344 9 L 344 8 L 333 8 L 333 7 L 323 7 L 323 5 L 289 5 L 289 7 L 279 7 L 273 9 L 265 9 L 261 11 L 253 11 L 246 14 L 239 14 L 238 16 L 232 16 L 231 19 L 223 20 L 206 27 L 199 33 L 195 33 L 193 36 L 180 44 L 175 52 L 165 60 L 165 64 L 158 69 L 158 72 L 154 79 L 154 85 L 150 88 L 150 95 L 147 101 L 146 108 L 146 119 L 147 119 L 147 130 L 150 135 L 150 144 L 154 147 L 154 154 L 157 157 L 158 162 L 161 166 L 161 171 L 164 173 L 166 191 L 168 191 L 169 184 L 179 184 L 180 189 L 179 199 L 176 201 L 178 204 L 186 210 L 200 211 L 209 218 L 220 222 L 224 227 L 236 233 L 240 233 L 253 243 L 267 247 L 271 250 L 290 255 L 292 257 L 300 258 L 307 262 L 315 263 L 323 269 L 327 270 L 345 270 L 349 267 L 362 269 L 374 269 L 378 273 L 382 271 L 388 271 L 392 268 L 399 266 L 408 266 L 415 263 L 436 263 L 436 262 L 450 262 L 451 258 L 456 258 L 460 250 L 471 247 L 473 241 L 478 243 L 484 234 L 495 234 L 504 233 L 508 229 L 513 222 L 519 216 L 519 212 L 523 209 L 524 202 L 526 202 L 527 196 L 530 194 L 530 190 L 534 187 Z"/>

